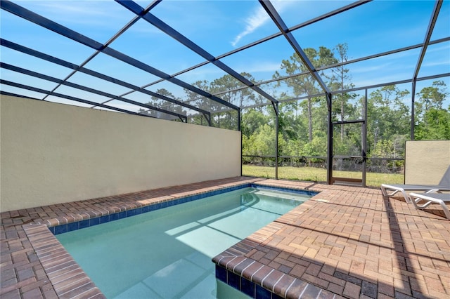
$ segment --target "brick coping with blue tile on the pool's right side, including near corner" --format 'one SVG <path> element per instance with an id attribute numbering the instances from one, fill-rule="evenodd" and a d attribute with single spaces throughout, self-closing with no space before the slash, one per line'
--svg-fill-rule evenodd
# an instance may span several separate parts
<path id="1" fill-rule="evenodd" d="M 257 185 L 271 187 L 265 184 Z M 317 195 L 319 192 L 314 194 Z M 311 199 L 314 201 L 314 197 Z M 271 236 L 291 223 L 290 213 L 298 215 L 308 211 L 310 206 L 307 203 L 308 201 L 293 208 L 212 258 L 212 262 L 216 265 L 216 278 L 252 298 L 319 298 L 319 295 L 321 298 L 334 298 L 335 294 L 330 291 L 249 257 L 257 246 L 266 243 Z"/>

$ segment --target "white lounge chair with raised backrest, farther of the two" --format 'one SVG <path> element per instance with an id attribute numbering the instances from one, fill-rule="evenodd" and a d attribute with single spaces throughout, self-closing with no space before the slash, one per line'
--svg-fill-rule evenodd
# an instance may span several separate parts
<path id="1" fill-rule="evenodd" d="M 407 203 L 411 203 L 411 199 L 406 191 L 414 192 L 432 190 L 435 190 L 435 192 L 450 191 L 450 166 L 447 168 L 438 185 L 381 184 L 381 192 L 383 192 L 383 197 L 392 197 L 397 194 L 397 192 L 400 192 L 403 194 L 403 197 Z"/>

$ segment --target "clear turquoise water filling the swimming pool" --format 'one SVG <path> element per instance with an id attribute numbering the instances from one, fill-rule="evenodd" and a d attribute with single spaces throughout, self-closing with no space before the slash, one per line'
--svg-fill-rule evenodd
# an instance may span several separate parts
<path id="1" fill-rule="evenodd" d="M 107 298 L 247 298 L 211 259 L 309 197 L 249 187 L 56 237 Z"/>

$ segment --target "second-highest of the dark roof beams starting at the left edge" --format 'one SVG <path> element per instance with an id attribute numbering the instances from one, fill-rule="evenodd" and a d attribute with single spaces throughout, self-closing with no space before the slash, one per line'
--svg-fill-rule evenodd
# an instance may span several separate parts
<path id="1" fill-rule="evenodd" d="M 145 93 L 145 94 L 153 96 L 155 98 L 160 98 L 162 100 L 166 100 L 167 102 L 173 102 L 176 105 L 180 105 L 180 106 L 186 107 L 188 109 L 193 109 L 193 110 L 195 110 L 197 112 L 200 112 L 202 114 L 210 114 L 209 111 L 200 109 L 200 108 L 195 107 L 193 105 L 189 105 L 188 103 L 181 102 L 179 100 L 174 100 L 174 99 L 169 98 L 169 97 L 167 97 L 165 95 L 160 95 L 159 93 L 154 93 L 153 91 L 148 91 L 145 88 L 141 88 L 139 86 L 135 86 L 133 84 L 129 84 L 129 83 L 127 83 L 125 81 L 122 81 L 120 79 L 115 79 L 115 78 L 107 76 L 105 74 L 101 74 L 99 72 L 95 72 L 95 71 L 93 71 L 91 69 L 86 69 L 85 67 L 79 67 L 79 65 L 75 65 L 75 64 L 73 64 L 71 62 L 68 62 L 68 61 L 65 61 L 65 60 L 61 60 L 59 58 L 55 58 L 55 57 L 53 57 L 51 55 L 47 55 L 45 53 L 41 53 L 39 51 L 33 50 L 31 48 L 27 48 L 25 46 L 21 46 L 19 44 L 15 44 L 12 41 L 8 41 L 6 39 L 0 39 L 0 44 L 1 44 L 1 46 L 6 46 L 7 48 L 11 48 L 11 49 L 13 49 L 15 51 L 19 51 L 19 52 L 25 53 L 27 55 L 34 56 L 36 58 L 40 58 L 42 60 L 53 62 L 56 65 L 60 65 L 60 66 L 63 66 L 63 67 L 68 67 L 70 69 L 78 69 L 79 72 L 82 72 L 84 74 L 89 74 L 89 75 L 91 75 L 93 77 L 96 77 L 98 79 L 103 79 L 105 81 L 109 81 L 109 82 L 111 82 L 113 84 L 117 84 L 117 85 L 120 85 L 120 86 L 124 86 L 124 87 L 130 88 L 133 91 L 139 91 L 141 93 Z M 129 93 L 131 93 L 131 92 L 129 92 Z M 127 95 L 129 93 L 124 93 L 122 95 L 119 95 L 119 97 L 123 97 L 124 95 Z M 114 99 L 112 99 L 112 100 L 114 100 Z M 105 104 L 106 102 L 109 102 L 109 101 L 110 100 L 105 101 L 102 104 Z M 149 105 L 149 106 L 151 106 L 151 105 Z M 93 107 L 96 107 L 96 106 L 94 105 Z M 151 107 L 153 107 L 153 106 L 151 106 Z"/>

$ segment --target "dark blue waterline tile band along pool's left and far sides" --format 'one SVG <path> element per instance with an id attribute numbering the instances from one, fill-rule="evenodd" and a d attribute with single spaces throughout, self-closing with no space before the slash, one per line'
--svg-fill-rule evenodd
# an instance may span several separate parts
<path id="1" fill-rule="evenodd" d="M 142 213 L 148 213 L 151 211 L 155 211 L 155 210 L 159 210 L 161 208 L 167 208 L 169 206 L 176 206 L 177 204 L 184 204 L 186 202 L 189 201 L 195 201 L 198 199 L 204 199 L 205 197 L 212 197 L 214 195 L 218 195 L 218 194 L 222 194 L 222 193 L 226 193 L 226 192 L 231 192 L 231 191 L 235 191 L 235 190 L 240 190 L 240 189 L 244 189 L 247 187 L 254 187 L 254 188 L 260 188 L 260 189 L 270 189 L 270 190 L 278 190 L 278 191 L 285 191 L 285 192 L 293 192 L 293 193 L 297 193 L 297 194 L 307 194 L 310 196 L 314 196 L 316 194 L 319 194 L 319 192 L 313 192 L 313 191 L 308 191 L 308 190 L 298 190 L 298 189 L 294 189 L 294 188 L 289 188 L 289 187 L 272 187 L 272 186 L 266 186 L 266 185 L 258 185 L 257 183 L 245 183 L 242 185 L 236 185 L 236 186 L 232 186 L 232 187 L 225 187 L 219 190 L 214 190 L 214 191 L 210 191 L 210 192 L 205 192 L 205 193 L 200 193 L 200 194 L 195 194 L 195 195 L 189 195 L 187 197 L 180 197 L 177 199 L 172 199 L 169 201 L 162 201 L 158 204 L 149 204 L 147 206 L 141 206 L 139 208 L 132 208 L 130 210 L 126 210 L 126 211 L 120 211 L 117 213 L 110 213 L 108 215 L 102 215 L 99 217 L 94 217 L 94 218 L 89 218 L 89 219 L 85 219 L 85 220 L 81 220 L 81 221 L 76 221 L 76 222 L 70 222 L 70 223 L 65 223 L 63 225 L 56 225 L 53 227 L 49 227 L 49 230 L 53 233 L 53 234 L 63 234 L 65 232 L 72 232 L 74 230 L 80 230 L 82 228 L 86 228 L 86 227 L 91 227 L 94 225 L 99 225 L 105 222 L 110 222 L 110 221 L 115 221 L 115 220 L 120 220 L 122 218 L 127 218 L 127 217 L 131 217 L 134 215 L 139 215 Z"/>

